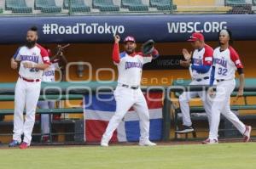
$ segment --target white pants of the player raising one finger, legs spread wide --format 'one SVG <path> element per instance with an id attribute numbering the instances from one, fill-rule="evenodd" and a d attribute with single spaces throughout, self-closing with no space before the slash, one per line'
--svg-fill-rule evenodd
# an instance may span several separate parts
<path id="1" fill-rule="evenodd" d="M 127 87 L 116 87 L 114 91 L 116 101 L 116 111 L 108 123 L 108 127 L 102 136 L 102 140 L 109 142 L 114 130 L 119 126 L 120 121 L 124 118 L 126 112 L 133 107 L 140 118 L 140 142 L 149 139 L 149 114 L 148 104 L 140 88 L 131 89 Z"/>

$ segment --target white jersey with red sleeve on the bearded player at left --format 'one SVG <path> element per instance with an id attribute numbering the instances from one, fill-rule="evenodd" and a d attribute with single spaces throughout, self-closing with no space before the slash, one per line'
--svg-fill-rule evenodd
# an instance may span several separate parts
<path id="1" fill-rule="evenodd" d="M 33 48 L 27 48 L 26 46 L 18 48 L 14 55 L 14 59 L 20 61 L 20 76 L 27 79 L 41 79 L 43 70 L 38 70 L 36 68 L 25 68 L 23 63 L 30 62 L 32 64 L 50 65 L 47 51 L 38 44 Z"/>

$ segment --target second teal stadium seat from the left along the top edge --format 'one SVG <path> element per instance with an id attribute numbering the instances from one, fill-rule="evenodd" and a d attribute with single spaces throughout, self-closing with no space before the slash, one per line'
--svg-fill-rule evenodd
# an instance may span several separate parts
<path id="1" fill-rule="evenodd" d="M 42 13 L 60 13 L 61 7 L 57 7 L 55 0 L 35 0 L 35 9 Z"/>

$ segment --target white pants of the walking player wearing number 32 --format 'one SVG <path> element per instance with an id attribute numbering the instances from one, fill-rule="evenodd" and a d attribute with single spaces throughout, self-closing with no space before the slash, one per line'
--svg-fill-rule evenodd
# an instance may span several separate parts
<path id="1" fill-rule="evenodd" d="M 236 86 L 235 79 L 217 83 L 216 97 L 212 102 L 212 123 L 209 138 L 218 140 L 218 125 L 220 114 L 224 115 L 243 134 L 246 126 L 230 110 L 230 95 Z"/>

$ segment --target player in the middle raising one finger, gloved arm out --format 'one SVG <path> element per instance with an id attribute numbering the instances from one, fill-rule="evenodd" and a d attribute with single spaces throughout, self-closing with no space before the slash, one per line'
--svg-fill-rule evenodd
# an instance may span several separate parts
<path id="1" fill-rule="evenodd" d="M 133 107 L 140 118 L 141 137 L 139 145 L 154 146 L 156 144 L 149 141 L 148 105 L 140 88 L 140 83 L 143 64 L 151 62 L 151 60 L 158 57 L 159 54 L 156 49 L 154 49 L 153 53 L 150 55 L 136 53 L 135 49 L 137 45 L 134 37 L 125 37 L 125 52 L 119 53 L 119 41 L 120 37 L 115 36 L 112 59 L 119 71 L 118 86 L 113 93 L 116 100 L 116 111 L 102 136 L 101 145 L 104 147 L 108 146 L 113 131 L 118 127 L 125 113 Z"/>

